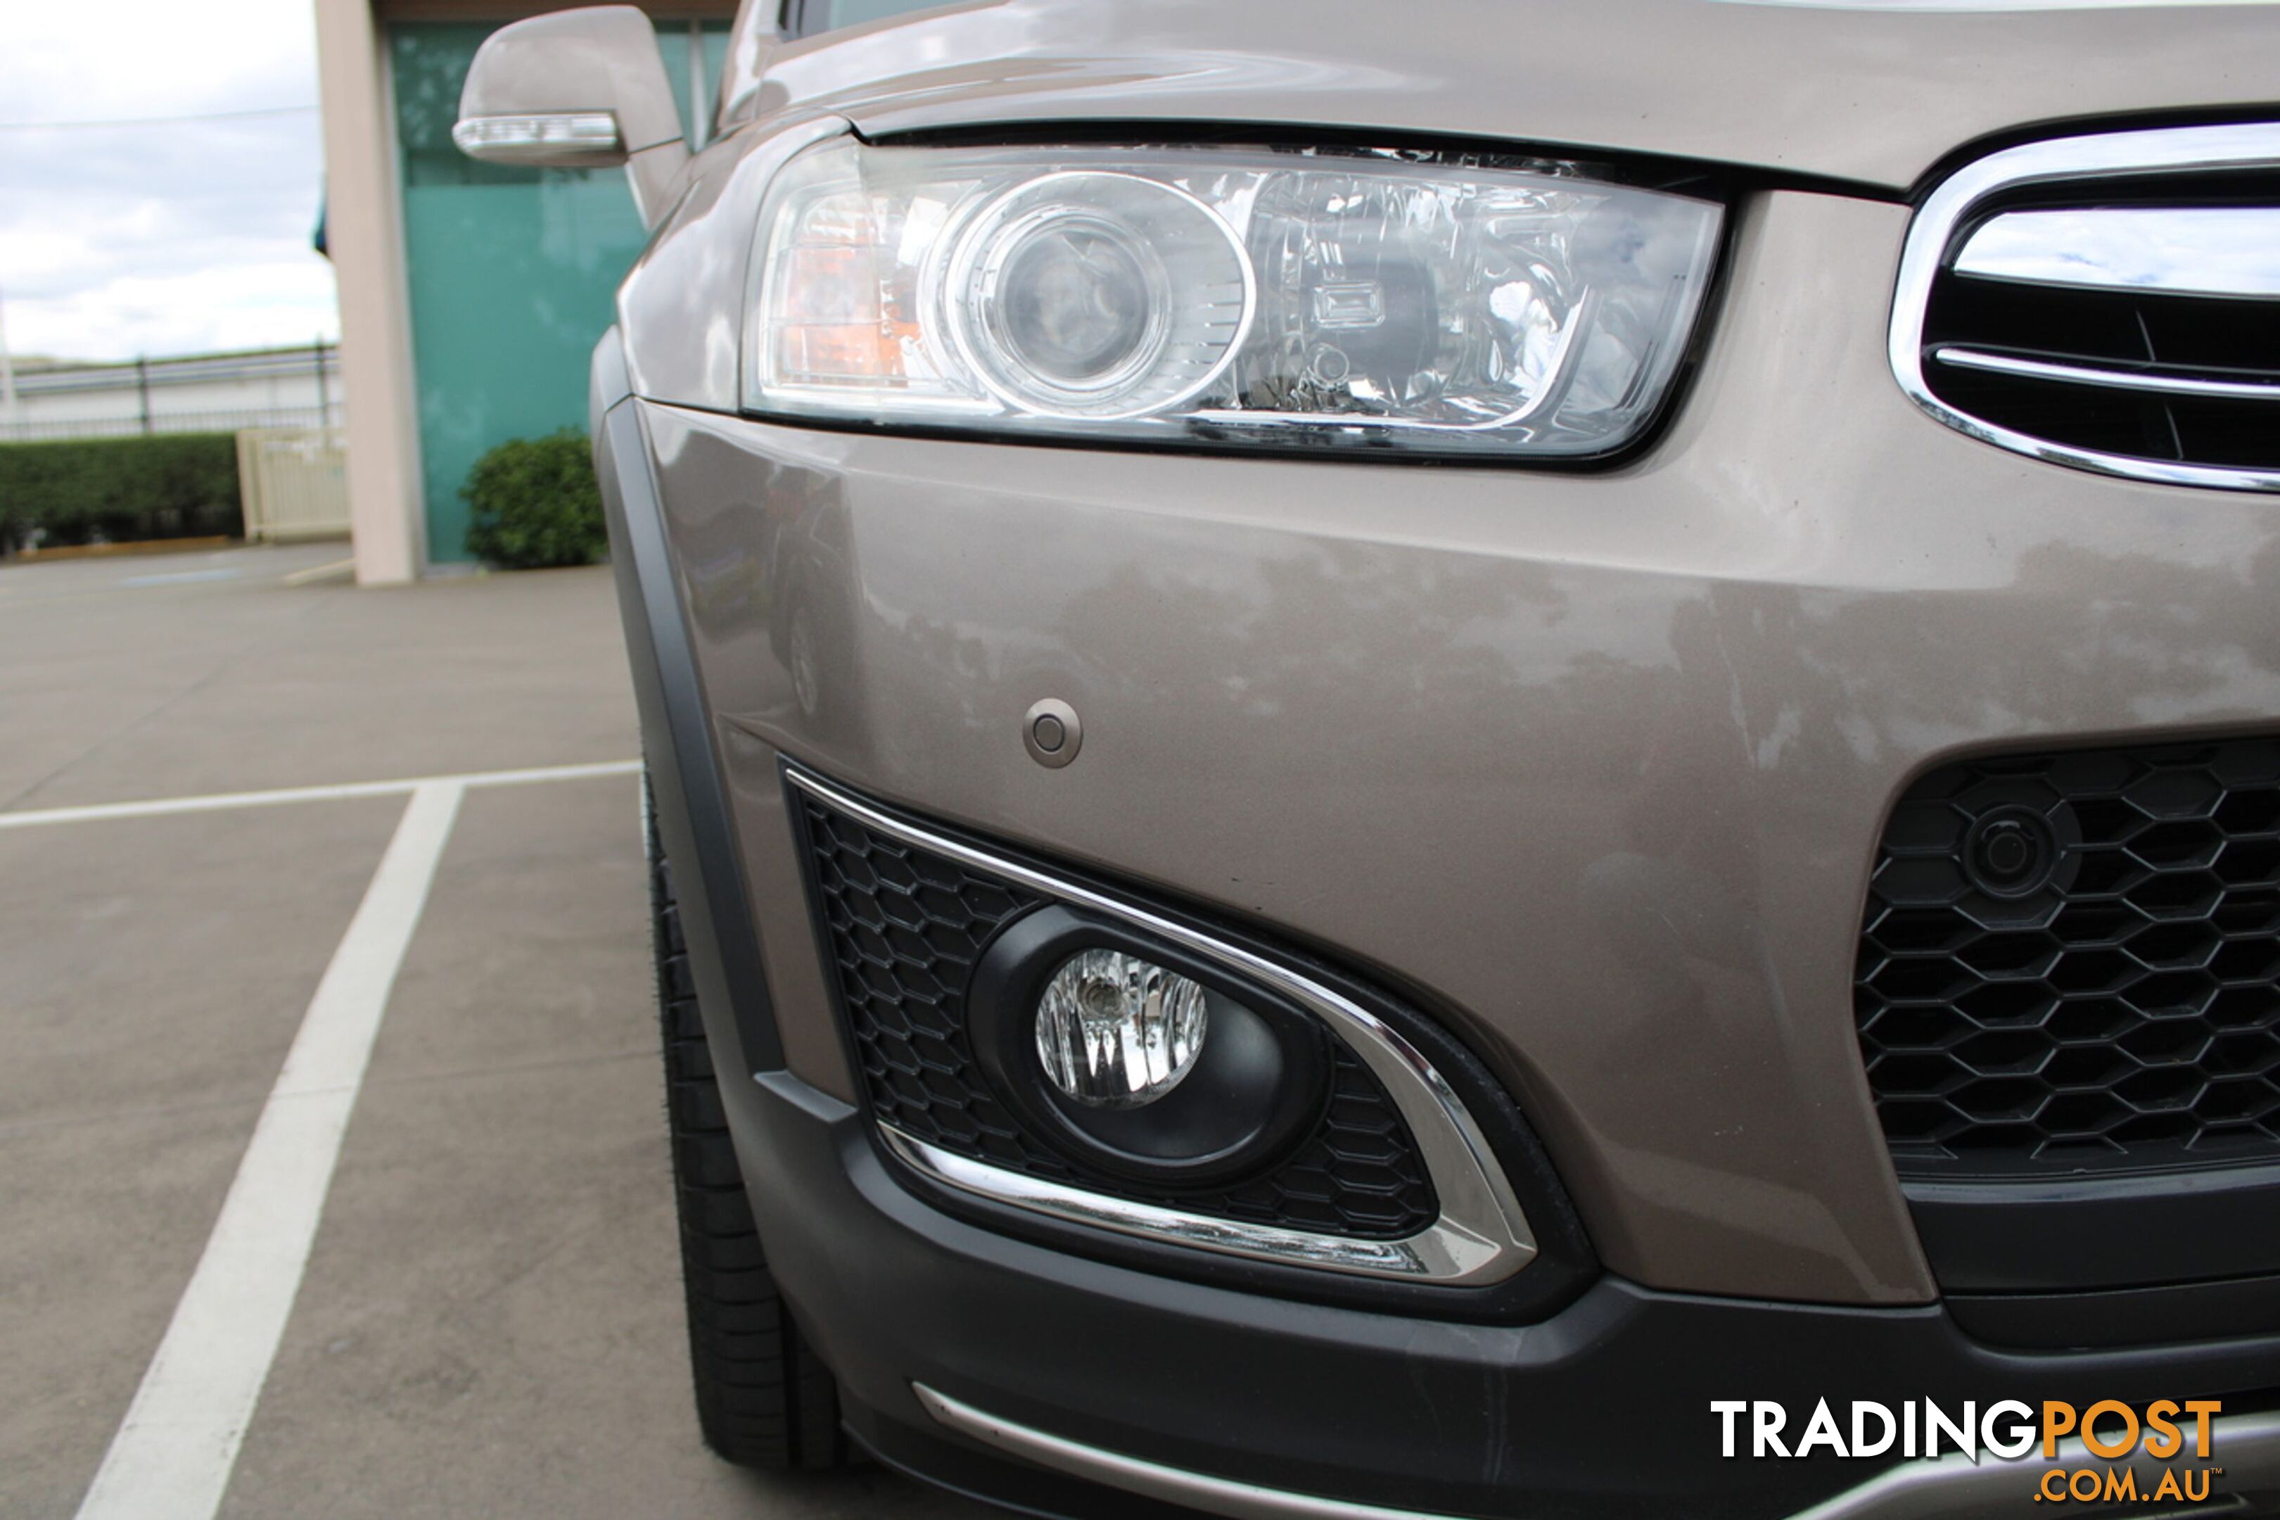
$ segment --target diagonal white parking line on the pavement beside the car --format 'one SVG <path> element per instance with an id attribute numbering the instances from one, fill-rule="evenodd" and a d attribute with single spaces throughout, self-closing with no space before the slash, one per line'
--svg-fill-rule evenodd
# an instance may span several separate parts
<path id="1" fill-rule="evenodd" d="M 212 1520 L 221 1506 L 465 783 L 424 781 L 410 792 L 80 1520 Z"/>

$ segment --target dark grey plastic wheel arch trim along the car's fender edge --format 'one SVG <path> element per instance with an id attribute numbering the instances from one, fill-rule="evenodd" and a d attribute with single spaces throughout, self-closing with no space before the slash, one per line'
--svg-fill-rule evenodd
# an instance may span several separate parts
<path id="1" fill-rule="evenodd" d="M 705 717 L 705 682 L 675 591 L 663 502 L 650 472 L 648 436 L 618 329 L 609 329 L 593 354 L 591 406 L 595 477 L 609 523 L 609 559 L 625 618 L 625 653 L 634 673 L 657 831 L 666 856 L 684 863 L 675 888 L 682 897 L 682 936 L 698 984 L 698 1009 L 714 1050 L 734 1050 L 739 1070 L 782 1070 L 784 1045 L 752 927 L 752 897 Z"/>

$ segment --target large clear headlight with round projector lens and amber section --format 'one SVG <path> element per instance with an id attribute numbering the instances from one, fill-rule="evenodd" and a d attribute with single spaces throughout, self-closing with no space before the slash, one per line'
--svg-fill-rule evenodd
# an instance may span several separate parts
<path id="1" fill-rule="evenodd" d="M 841 137 L 762 208 L 746 406 L 1607 454 L 1678 372 L 1717 231 L 1715 203 L 1562 164 Z"/>

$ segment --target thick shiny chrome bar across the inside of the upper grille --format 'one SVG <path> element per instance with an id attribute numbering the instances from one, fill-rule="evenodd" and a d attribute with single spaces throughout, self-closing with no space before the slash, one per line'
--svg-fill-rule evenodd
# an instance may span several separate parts
<path id="1" fill-rule="evenodd" d="M 2077 290 L 2280 297 L 2280 205 L 2107 205 L 2002 212 L 1956 274 Z"/>

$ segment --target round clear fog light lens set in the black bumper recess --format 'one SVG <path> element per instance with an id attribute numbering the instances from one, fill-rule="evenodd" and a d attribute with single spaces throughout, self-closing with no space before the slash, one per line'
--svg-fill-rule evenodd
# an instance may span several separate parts
<path id="1" fill-rule="evenodd" d="M 1195 1068 L 1204 988 L 1119 949 L 1060 963 L 1037 1000 L 1037 1059 L 1067 1098 L 1094 1109 L 1156 1102 Z"/>

